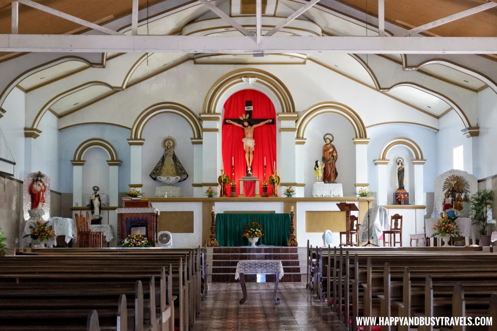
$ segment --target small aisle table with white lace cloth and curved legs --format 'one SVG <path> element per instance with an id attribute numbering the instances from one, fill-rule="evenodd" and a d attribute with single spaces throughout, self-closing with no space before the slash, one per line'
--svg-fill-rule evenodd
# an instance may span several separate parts
<path id="1" fill-rule="evenodd" d="M 245 286 L 244 277 L 245 274 L 276 274 L 273 300 L 277 305 L 280 303 L 280 299 L 276 298 L 276 292 L 278 290 L 279 280 L 284 275 L 283 264 L 281 261 L 253 260 L 238 262 L 237 270 L 235 272 L 235 279 L 240 278 L 240 286 L 242 287 L 242 293 L 244 295 L 244 297 L 240 300 L 240 304 L 243 304 L 247 300 L 247 287 Z"/>

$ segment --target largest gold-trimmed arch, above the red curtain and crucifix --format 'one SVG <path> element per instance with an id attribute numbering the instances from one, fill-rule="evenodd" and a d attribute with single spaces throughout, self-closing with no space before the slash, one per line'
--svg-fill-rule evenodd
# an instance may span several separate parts
<path id="1" fill-rule="evenodd" d="M 230 89 L 230 87 L 239 84 L 242 77 L 257 78 L 255 85 L 261 84 L 269 88 L 280 103 L 280 108 L 283 113 L 294 113 L 295 103 L 293 102 L 290 90 L 286 85 L 275 75 L 256 68 L 242 68 L 228 72 L 219 78 L 209 89 L 204 100 L 204 112 L 215 113 L 216 106 L 221 97 Z"/>

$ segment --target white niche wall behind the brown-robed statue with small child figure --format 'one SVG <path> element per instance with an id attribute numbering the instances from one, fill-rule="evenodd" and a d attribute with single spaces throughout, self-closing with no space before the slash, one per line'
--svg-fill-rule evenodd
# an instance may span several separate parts
<path id="1" fill-rule="evenodd" d="M 305 132 L 304 159 L 300 160 L 304 163 L 305 197 L 312 197 L 312 185 L 316 181 L 314 165 L 316 160 L 322 163 L 323 135 L 328 132 L 334 136 L 333 145 L 338 154 L 336 182 L 342 184 L 344 197 L 350 197 L 355 192 L 354 130 L 344 117 L 327 113 L 315 117 Z"/>

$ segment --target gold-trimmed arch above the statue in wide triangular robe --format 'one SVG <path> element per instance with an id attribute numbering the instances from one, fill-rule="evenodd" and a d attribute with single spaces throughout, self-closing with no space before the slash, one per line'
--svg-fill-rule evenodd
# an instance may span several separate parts
<path id="1" fill-rule="evenodd" d="M 202 139 L 202 125 L 196 114 L 184 105 L 175 102 L 156 103 L 143 110 L 135 119 L 131 128 L 131 140 L 142 138 L 143 129 L 147 123 L 159 114 L 175 114 L 186 120 L 193 133 L 193 139 Z"/>

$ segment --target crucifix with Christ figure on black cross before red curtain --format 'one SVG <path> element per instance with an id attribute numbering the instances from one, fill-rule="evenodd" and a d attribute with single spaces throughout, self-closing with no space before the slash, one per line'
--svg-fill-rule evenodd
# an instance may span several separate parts
<path id="1" fill-rule="evenodd" d="M 240 116 L 240 119 L 226 119 L 224 122 L 244 129 L 245 138 L 242 141 L 244 142 L 245 161 L 247 162 L 247 175 L 252 174 L 253 148 L 255 146 L 253 130 L 264 124 L 274 123 L 273 119 L 252 119 L 252 110 L 252 101 L 247 100 L 245 102 L 245 114 Z"/>

